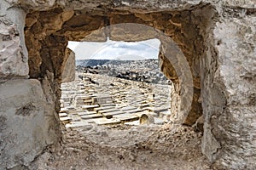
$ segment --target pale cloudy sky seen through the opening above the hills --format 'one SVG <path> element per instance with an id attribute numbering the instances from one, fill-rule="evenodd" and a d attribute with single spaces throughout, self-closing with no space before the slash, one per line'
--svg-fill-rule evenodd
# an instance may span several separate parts
<path id="1" fill-rule="evenodd" d="M 160 41 L 151 39 L 142 42 L 68 42 L 76 59 L 157 59 Z"/>

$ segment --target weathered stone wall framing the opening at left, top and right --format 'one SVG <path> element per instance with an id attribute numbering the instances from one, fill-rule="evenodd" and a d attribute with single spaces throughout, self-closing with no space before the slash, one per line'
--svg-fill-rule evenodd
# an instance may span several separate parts
<path id="1" fill-rule="evenodd" d="M 0 167 L 27 166 L 61 138 L 56 113 L 67 41 L 125 40 L 118 30 L 93 32 L 137 23 L 172 37 L 188 61 L 194 94 L 185 123 L 192 125 L 203 114 L 202 151 L 212 165 L 255 168 L 255 6 L 253 0 L 1 1 Z M 151 37 L 142 34 L 133 41 Z M 175 69 L 178 58 L 167 59 L 164 45 L 161 69 L 174 82 L 178 115 L 186 104 L 180 99 L 183 72 Z"/>

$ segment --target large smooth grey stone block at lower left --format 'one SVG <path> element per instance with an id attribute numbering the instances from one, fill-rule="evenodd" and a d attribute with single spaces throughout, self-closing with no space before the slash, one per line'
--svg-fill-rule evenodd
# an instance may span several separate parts
<path id="1" fill-rule="evenodd" d="M 0 167 L 27 166 L 57 139 L 49 123 L 54 108 L 38 80 L 4 82 L 0 94 Z"/>

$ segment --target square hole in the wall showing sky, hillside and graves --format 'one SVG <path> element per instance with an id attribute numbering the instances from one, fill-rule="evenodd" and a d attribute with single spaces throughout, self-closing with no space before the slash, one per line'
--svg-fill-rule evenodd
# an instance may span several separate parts
<path id="1" fill-rule="evenodd" d="M 168 122 L 172 82 L 160 72 L 159 47 L 158 39 L 68 42 L 76 71 L 73 82 L 61 84 L 61 122 L 66 127 Z"/>

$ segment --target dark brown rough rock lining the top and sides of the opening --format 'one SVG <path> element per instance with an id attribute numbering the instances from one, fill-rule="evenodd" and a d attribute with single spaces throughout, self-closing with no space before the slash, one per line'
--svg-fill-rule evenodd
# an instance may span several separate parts
<path id="1" fill-rule="evenodd" d="M 199 15 L 201 8 L 212 11 L 210 16 Z M 142 24 L 152 26 L 155 29 L 163 31 L 167 36 L 177 42 L 179 48 L 188 60 L 189 67 L 187 68 L 193 74 L 194 95 L 192 109 L 189 111 L 189 116 L 186 119 L 186 124 L 192 125 L 202 114 L 201 109 L 201 85 L 200 85 L 200 59 L 204 54 L 204 40 L 200 33 L 200 20 L 204 20 L 204 24 L 208 25 L 210 18 L 214 15 L 214 9 L 210 5 L 201 4 L 196 7 L 191 7 L 185 10 L 174 10 L 172 12 L 152 12 L 148 14 L 133 13 L 131 11 L 110 10 L 108 14 L 101 14 L 94 10 L 88 12 L 88 9 L 83 10 L 65 10 L 62 8 L 53 8 L 48 11 L 33 12 L 26 16 L 26 47 L 28 48 L 29 56 L 29 75 L 31 78 L 41 79 L 46 94 L 51 91 L 49 98 L 51 105 L 55 105 L 55 114 L 60 110 L 59 99 L 61 97 L 61 73 L 62 65 L 65 64 L 69 51 L 66 48 L 68 41 L 99 41 L 105 42 L 107 37 L 112 40 L 122 41 L 142 41 L 155 37 L 153 32 L 148 34 L 132 35 L 132 32 L 120 34 L 122 29 L 113 31 L 102 31 L 105 26 L 113 26 L 123 23 Z M 201 16 L 201 17 L 199 17 Z M 96 33 L 94 33 L 96 31 Z M 100 31 L 100 32 L 99 32 Z M 130 33 L 130 35 L 129 35 Z M 164 42 L 162 40 L 161 50 L 164 51 Z M 192 43 L 193 42 L 193 43 Z M 173 116 L 178 116 L 181 99 L 181 84 L 178 77 L 182 71 L 178 73 L 175 66 L 166 58 L 165 52 L 160 53 L 161 70 L 165 75 L 174 82 L 175 91 L 172 92 L 172 112 Z M 178 60 L 172 61 L 177 63 Z M 189 98 L 189 96 L 188 96 Z M 185 107 L 185 105 L 183 105 Z M 58 128 L 56 116 L 52 115 L 55 120 L 55 126 Z"/>

